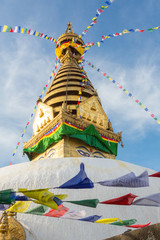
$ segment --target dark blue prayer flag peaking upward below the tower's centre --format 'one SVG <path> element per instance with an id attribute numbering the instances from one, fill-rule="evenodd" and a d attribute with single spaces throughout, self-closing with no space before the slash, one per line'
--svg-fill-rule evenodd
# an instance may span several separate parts
<path id="1" fill-rule="evenodd" d="M 93 182 L 87 177 L 85 172 L 84 163 L 80 164 L 80 171 L 79 173 L 62 184 L 59 188 L 72 188 L 72 189 L 79 189 L 79 188 L 93 188 Z"/>

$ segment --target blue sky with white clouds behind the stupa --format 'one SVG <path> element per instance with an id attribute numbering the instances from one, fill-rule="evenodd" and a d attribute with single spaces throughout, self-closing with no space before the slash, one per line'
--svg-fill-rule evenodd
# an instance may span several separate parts
<path id="1" fill-rule="evenodd" d="M 0 25 L 22 26 L 55 38 L 71 21 L 81 34 L 91 23 L 102 0 L 1 0 Z M 124 29 L 147 29 L 160 25 L 157 0 L 115 0 L 88 30 L 83 40 L 97 42 L 102 35 Z M 160 30 L 131 33 L 106 39 L 93 47 L 85 59 L 121 83 L 160 119 Z M 13 151 L 54 67 L 55 45 L 34 36 L 0 33 L 0 167 L 10 163 Z M 115 132 L 123 132 L 117 159 L 160 170 L 160 125 L 141 107 L 101 74 L 85 66 L 102 100 Z M 22 141 L 32 136 L 32 122 Z M 13 164 L 22 157 L 22 143 Z"/>

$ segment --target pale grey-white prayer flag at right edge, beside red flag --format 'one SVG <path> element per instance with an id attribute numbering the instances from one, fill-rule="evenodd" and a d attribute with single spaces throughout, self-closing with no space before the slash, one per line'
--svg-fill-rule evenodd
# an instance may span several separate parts
<path id="1" fill-rule="evenodd" d="M 137 199 L 133 205 L 160 207 L 160 193 Z"/>

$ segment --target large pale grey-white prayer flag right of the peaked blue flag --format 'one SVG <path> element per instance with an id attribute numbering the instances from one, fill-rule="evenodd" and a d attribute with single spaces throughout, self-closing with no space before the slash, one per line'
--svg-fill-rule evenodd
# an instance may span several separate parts
<path id="1" fill-rule="evenodd" d="M 138 177 L 130 172 L 122 177 L 98 183 L 108 187 L 147 187 L 149 186 L 148 172 L 145 171 Z"/>

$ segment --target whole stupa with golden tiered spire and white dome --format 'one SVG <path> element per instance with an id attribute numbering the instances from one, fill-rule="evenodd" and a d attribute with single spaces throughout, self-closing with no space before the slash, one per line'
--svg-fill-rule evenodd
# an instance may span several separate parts
<path id="1" fill-rule="evenodd" d="M 56 45 L 61 67 L 44 99 L 38 99 L 33 135 L 24 143 L 23 152 L 30 161 L 1 168 L 1 189 L 53 189 L 75 176 L 80 163 L 84 163 L 93 182 L 115 179 L 130 172 L 136 175 L 145 170 L 154 173 L 151 169 L 116 159 L 118 143 L 123 146 L 121 132 L 114 132 L 97 91 L 80 65 L 84 45 L 69 23 Z M 93 189 L 54 189 L 55 194 L 68 194 L 68 201 L 95 198 L 105 201 L 129 193 L 143 197 L 158 191 L 156 178 L 151 178 L 150 185 L 143 188 L 95 184 Z M 84 210 L 86 217 L 137 219 L 138 224 L 159 222 L 159 210 L 155 207 L 99 204 L 97 208 L 89 208 L 69 202 L 64 205 L 69 210 Z M 31 208 L 35 206 L 35 203 L 31 204 Z M 99 240 L 127 230 L 126 227 L 23 213 L 17 214 L 17 220 L 26 234 L 22 239 L 27 240 Z M 17 236 L 16 239 L 21 238 Z"/>

